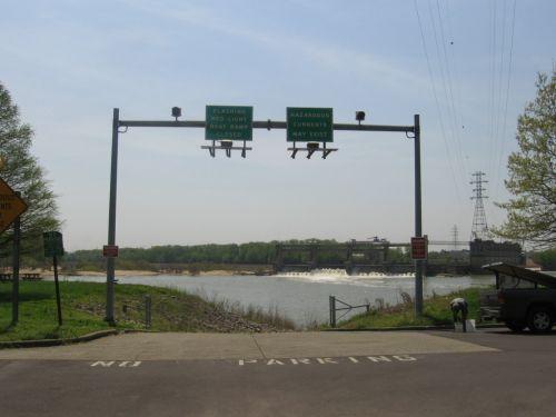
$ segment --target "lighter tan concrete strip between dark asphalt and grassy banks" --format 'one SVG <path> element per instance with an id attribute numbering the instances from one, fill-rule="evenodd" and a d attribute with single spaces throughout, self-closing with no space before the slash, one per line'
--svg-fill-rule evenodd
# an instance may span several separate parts
<path id="1" fill-rule="evenodd" d="M 196 360 L 497 351 L 416 331 L 277 334 L 137 332 L 86 344 L 0 350 L 0 359 Z"/>

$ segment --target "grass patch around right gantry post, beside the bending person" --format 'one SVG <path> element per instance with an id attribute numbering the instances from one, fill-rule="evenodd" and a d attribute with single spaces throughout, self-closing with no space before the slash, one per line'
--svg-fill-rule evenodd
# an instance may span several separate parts
<path id="1" fill-rule="evenodd" d="M 447 296 L 437 296 L 428 298 L 424 302 L 423 316 L 415 317 L 415 307 L 413 301 L 385 307 L 383 309 L 371 309 L 369 314 L 355 316 L 346 321 L 338 324 L 342 329 L 364 329 L 381 327 L 403 327 L 403 326 L 439 326 L 453 324 L 449 302 L 456 297 L 463 297 L 469 305 L 469 319 L 479 318 L 479 289 L 469 288 L 453 292 Z"/>

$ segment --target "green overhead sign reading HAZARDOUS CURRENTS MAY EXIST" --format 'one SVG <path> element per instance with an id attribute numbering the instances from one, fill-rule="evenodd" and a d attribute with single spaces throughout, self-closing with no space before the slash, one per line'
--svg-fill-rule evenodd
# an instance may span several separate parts
<path id="1" fill-rule="evenodd" d="M 334 141 L 332 109 L 288 107 L 286 109 L 288 142 Z"/>

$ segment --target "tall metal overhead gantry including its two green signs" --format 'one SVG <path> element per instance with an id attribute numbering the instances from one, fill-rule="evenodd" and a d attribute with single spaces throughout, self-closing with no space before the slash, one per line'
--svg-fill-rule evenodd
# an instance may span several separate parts
<path id="1" fill-rule="evenodd" d="M 224 150 L 227 157 L 231 157 L 232 150 L 240 150 L 241 157 L 246 157 L 251 147 L 247 146 L 252 141 L 252 129 L 286 129 L 286 140 L 292 143 L 288 151 L 295 158 L 299 151 L 306 151 L 310 159 L 315 152 L 322 152 L 326 159 L 330 152 L 338 149 L 329 148 L 334 141 L 335 130 L 350 131 L 383 131 L 403 132 L 407 138 L 414 139 L 415 147 L 415 237 L 423 237 L 421 228 L 421 190 L 420 190 L 420 121 L 419 115 L 414 116 L 414 125 L 390 126 L 390 125 L 364 125 L 365 112 L 357 111 L 358 123 L 336 123 L 334 122 L 334 111 L 331 108 L 300 108 L 289 107 L 286 110 L 286 121 L 275 120 L 252 120 L 254 110 L 248 106 L 207 106 L 206 120 L 179 120 L 181 109 L 172 108 L 175 120 L 121 120 L 119 109 L 113 109 L 112 119 L 112 156 L 110 170 L 110 203 L 108 216 L 108 246 L 116 246 L 116 196 L 118 177 L 118 139 L 120 133 L 125 133 L 129 128 L 202 128 L 205 139 L 210 145 L 201 146 L 208 149 L 211 157 L 217 150 Z M 241 146 L 236 146 L 235 142 Z M 306 143 L 306 147 L 297 147 L 298 142 Z M 415 260 L 415 310 L 417 315 L 423 312 L 423 259 Z M 106 319 L 115 321 L 115 258 L 107 259 L 107 310 Z"/>

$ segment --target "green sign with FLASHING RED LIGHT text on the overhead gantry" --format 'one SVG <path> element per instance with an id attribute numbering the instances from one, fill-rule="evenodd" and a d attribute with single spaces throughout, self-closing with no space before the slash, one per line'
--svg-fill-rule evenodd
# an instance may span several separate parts
<path id="1" fill-rule="evenodd" d="M 252 107 L 207 106 L 205 139 L 252 140 Z"/>

